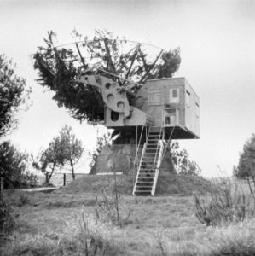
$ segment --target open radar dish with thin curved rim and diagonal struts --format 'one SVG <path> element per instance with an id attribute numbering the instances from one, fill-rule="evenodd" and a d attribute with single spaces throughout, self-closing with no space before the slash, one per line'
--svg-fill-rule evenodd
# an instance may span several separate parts
<path id="1" fill-rule="evenodd" d="M 125 39 L 94 38 L 55 47 L 55 54 L 67 54 L 78 74 L 98 73 L 120 86 L 137 89 L 147 79 L 154 79 L 164 64 L 164 49 Z M 68 64 L 67 64 L 68 65 Z"/>

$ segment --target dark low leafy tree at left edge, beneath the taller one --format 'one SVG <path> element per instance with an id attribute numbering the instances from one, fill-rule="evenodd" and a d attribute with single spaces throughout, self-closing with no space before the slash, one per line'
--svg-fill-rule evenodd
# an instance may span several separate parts
<path id="1" fill-rule="evenodd" d="M 1 176 L 9 186 L 20 188 L 35 179 L 35 175 L 28 172 L 28 154 L 20 152 L 9 141 L 0 144 Z"/>

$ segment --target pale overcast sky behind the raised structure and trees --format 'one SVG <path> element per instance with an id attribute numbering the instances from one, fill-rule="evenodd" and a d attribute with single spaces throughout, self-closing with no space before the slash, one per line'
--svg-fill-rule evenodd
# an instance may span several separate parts
<path id="1" fill-rule="evenodd" d="M 0 53 L 17 64 L 32 87 L 32 106 L 18 113 L 18 129 L 4 139 L 36 154 L 65 124 L 86 150 L 96 145 L 95 127 L 58 108 L 35 79 L 31 55 L 47 31 L 60 44 L 71 32 L 93 37 L 107 28 L 120 37 L 164 49 L 180 47 L 185 77 L 200 96 L 200 139 L 180 141 L 204 177 L 231 175 L 246 140 L 255 133 L 255 1 L 12 1 L 0 0 Z M 101 132 L 106 129 L 101 129 Z M 88 172 L 86 160 L 78 172 Z"/>

